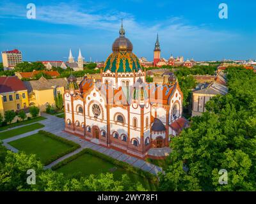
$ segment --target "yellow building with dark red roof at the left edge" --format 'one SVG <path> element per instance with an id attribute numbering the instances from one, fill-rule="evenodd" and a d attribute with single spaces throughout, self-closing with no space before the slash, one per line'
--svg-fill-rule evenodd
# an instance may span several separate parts
<path id="1" fill-rule="evenodd" d="M 0 77 L 0 113 L 8 110 L 17 112 L 29 106 L 28 90 L 19 78 Z"/>

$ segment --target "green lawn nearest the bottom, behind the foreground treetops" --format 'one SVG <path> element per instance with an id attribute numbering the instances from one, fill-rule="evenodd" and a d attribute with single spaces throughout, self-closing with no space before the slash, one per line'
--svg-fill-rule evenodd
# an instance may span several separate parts
<path id="1" fill-rule="evenodd" d="M 62 172 L 65 175 L 79 175 L 79 176 L 88 176 L 90 174 L 99 174 L 99 173 L 113 173 L 115 179 L 121 179 L 123 174 L 127 174 L 129 178 L 136 182 L 139 181 L 145 188 L 148 190 L 156 190 L 156 184 L 150 183 L 147 179 L 140 177 L 136 173 L 126 171 L 119 166 L 115 166 L 108 161 L 100 159 L 99 157 L 92 156 L 91 154 L 83 154 L 82 156 L 77 157 L 70 163 L 61 166 L 56 171 Z"/>

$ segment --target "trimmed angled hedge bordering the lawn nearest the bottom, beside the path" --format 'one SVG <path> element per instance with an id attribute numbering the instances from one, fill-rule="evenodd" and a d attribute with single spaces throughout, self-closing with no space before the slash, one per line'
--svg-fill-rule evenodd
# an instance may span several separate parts
<path id="1" fill-rule="evenodd" d="M 132 173 L 136 173 L 136 174 L 140 175 L 143 178 L 147 178 L 147 179 L 151 180 L 152 182 L 157 182 L 157 177 L 154 176 L 152 173 L 149 173 L 147 171 L 143 171 L 140 168 L 136 168 L 136 167 L 132 166 L 131 164 L 125 163 L 124 161 L 118 161 L 117 159 L 114 159 L 110 156 L 107 156 L 106 154 L 102 154 L 100 152 L 97 152 L 95 150 L 88 149 L 88 148 L 83 149 L 83 150 L 81 150 L 81 152 L 79 152 L 77 154 L 74 154 L 73 156 L 70 156 L 67 159 L 64 159 L 63 161 L 61 161 L 60 163 L 52 166 L 52 170 L 56 170 L 56 169 L 60 168 L 61 166 L 64 166 L 65 164 L 70 163 L 71 161 L 73 161 L 77 157 L 82 156 L 83 154 L 91 154 L 92 156 L 95 156 L 95 157 L 98 157 L 98 158 L 103 159 L 105 161 L 108 161 L 109 163 L 112 163 L 115 166 L 119 166 L 120 168 L 124 168 L 124 170 L 131 171 Z"/>

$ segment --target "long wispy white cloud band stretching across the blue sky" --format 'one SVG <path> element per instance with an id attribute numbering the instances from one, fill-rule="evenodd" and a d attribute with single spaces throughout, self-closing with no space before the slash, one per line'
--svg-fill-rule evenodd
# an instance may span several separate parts
<path id="1" fill-rule="evenodd" d="M 100 7 L 101 8 L 101 7 Z M 120 27 L 120 19 L 124 18 L 124 27 L 127 36 L 132 41 L 140 45 L 152 46 L 156 40 L 156 34 L 159 33 L 160 43 L 164 44 L 166 52 L 171 52 L 172 48 L 183 46 L 204 47 L 221 43 L 230 39 L 239 38 L 238 34 L 228 33 L 226 31 L 214 31 L 207 25 L 189 25 L 183 17 L 169 17 L 166 20 L 150 22 L 139 22 L 131 13 L 124 11 L 106 11 L 97 8 L 83 8 L 79 4 L 52 4 L 41 6 L 36 4 L 36 19 L 49 24 L 66 24 L 77 27 L 84 27 L 92 30 L 108 31 L 117 33 Z M 26 18 L 26 5 L 15 3 L 0 3 L 0 17 L 2 18 Z M 153 44 L 154 45 L 154 44 Z M 188 48 L 187 47 L 187 48 Z M 138 48 L 140 52 L 142 47 Z M 205 48 L 209 50 L 209 48 Z M 146 54 L 149 51 L 145 51 Z M 147 54 L 146 54 L 147 55 Z"/>

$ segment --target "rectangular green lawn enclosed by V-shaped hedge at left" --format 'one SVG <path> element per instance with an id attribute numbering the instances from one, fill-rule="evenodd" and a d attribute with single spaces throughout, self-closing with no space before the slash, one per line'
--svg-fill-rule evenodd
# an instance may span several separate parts
<path id="1" fill-rule="evenodd" d="M 71 145 L 54 140 L 40 133 L 14 140 L 9 144 L 20 151 L 26 152 L 26 154 L 36 154 L 43 164 L 53 156 L 60 155 L 61 157 L 63 152 L 67 152 L 68 149 L 72 148 Z"/>

